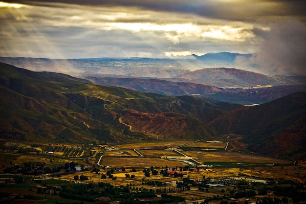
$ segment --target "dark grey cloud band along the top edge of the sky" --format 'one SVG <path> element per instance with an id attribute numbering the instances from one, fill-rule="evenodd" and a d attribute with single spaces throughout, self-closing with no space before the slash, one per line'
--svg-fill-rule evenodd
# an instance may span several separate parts
<path id="1" fill-rule="evenodd" d="M 52 6 L 57 2 L 88 6 L 139 7 L 154 11 L 192 13 L 208 18 L 239 21 L 290 16 L 306 23 L 305 0 L 16 0 L 14 2 L 32 5 L 52 3 Z"/>

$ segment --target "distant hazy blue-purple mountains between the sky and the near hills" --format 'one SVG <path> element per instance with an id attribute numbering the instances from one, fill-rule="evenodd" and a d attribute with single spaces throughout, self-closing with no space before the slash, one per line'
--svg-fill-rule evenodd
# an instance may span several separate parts
<path id="1" fill-rule="evenodd" d="M 190 55 L 187 59 L 0 57 L 0 62 L 32 71 L 66 73 L 100 85 L 169 96 L 197 95 L 210 101 L 243 105 L 306 91 L 306 76 L 269 76 L 222 67 L 235 66 L 238 56 L 250 58 L 252 54 L 220 52 Z"/>

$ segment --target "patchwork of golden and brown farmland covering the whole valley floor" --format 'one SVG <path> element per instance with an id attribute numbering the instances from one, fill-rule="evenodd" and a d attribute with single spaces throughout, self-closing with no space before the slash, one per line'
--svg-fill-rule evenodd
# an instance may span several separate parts
<path id="1" fill-rule="evenodd" d="M 169 195 L 184 197 L 186 202 L 197 201 L 202 203 L 205 199 L 220 197 L 224 194 L 229 195 L 231 191 L 237 192 L 240 190 L 236 189 L 232 183 L 221 187 L 206 186 L 202 189 L 196 187 L 197 185 L 193 185 L 196 181 L 202 181 L 204 178 L 209 178 L 211 183 L 220 183 L 220 181 L 226 180 L 234 183 L 237 180 L 249 182 L 254 180 L 306 182 L 306 168 L 301 163 L 293 165 L 293 161 L 290 160 L 227 151 L 224 150 L 225 145 L 226 142 L 208 143 L 198 141 L 155 141 L 115 146 L 90 145 L 87 147 L 87 152 L 91 151 L 91 154 L 85 158 L 71 158 L 47 153 L 21 154 L 17 153 L 17 151 L 14 153 L 0 153 L 0 164 L 2 164 L 0 172 L 3 172 L 7 167 L 14 167 L 16 163 L 20 165 L 29 161 L 33 163 L 42 162 L 44 163 L 44 168 L 49 167 L 52 169 L 73 162 L 76 165 L 85 167 L 83 171 L 69 169 L 66 172 L 63 169 L 62 171 L 48 174 L 44 172 L 28 178 L 26 182 L 21 184 L 6 184 L 5 182 L 12 180 L 11 178 L 14 174 L 1 174 L 0 181 L 5 186 L 1 188 L 1 192 L 2 194 L 18 192 L 21 195 L 37 196 L 39 197 L 37 204 L 73 203 L 75 200 L 63 199 L 58 195 L 38 194 L 36 193 L 37 189 L 42 184 L 61 187 L 63 185 L 77 185 L 76 183 L 93 183 L 97 186 L 98 183 L 105 182 L 117 187 L 129 186 L 131 192 L 167 192 Z M 65 149 L 71 150 L 71 152 L 83 152 L 81 148 L 77 150 L 77 147 L 69 145 L 50 145 L 50 147 L 52 148 L 51 150 L 56 152 L 65 152 Z M 66 148 L 64 149 L 64 147 Z M 216 150 L 213 151 L 212 149 Z M 71 152 L 69 155 L 72 154 Z M 162 157 L 167 159 L 161 159 Z M 192 166 L 186 161 L 195 162 L 197 166 Z M 153 175 L 151 168 L 157 171 L 157 175 Z M 162 170 L 167 170 L 169 175 L 162 175 Z M 109 171 L 111 171 L 112 178 L 109 176 Z M 150 172 L 149 176 L 145 175 L 146 171 Z M 175 177 L 172 175 L 173 172 L 171 173 L 170 171 L 176 171 L 178 174 L 182 173 L 183 175 L 182 177 Z M 102 175 L 106 175 L 106 178 L 101 177 Z M 81 181 L 81 176 L 86 176 L 88 180 Z M 75 178 L 78 179 L 75 180 Z M 186 189 L 186 186 L 181 189 L 176 185 L 177 181 L 183 182 L 187 178 L 196 180 L 195 183 L 189 184 L 190 190 Z M 26 178 L 24 177 L 24 179 Z M 152 185 L 153 181 L 159 181 L 164 185 Z M 291 185 L 290 182 L 284 183 L 284 185 L 286 184 Z M 261 185 L 262 188 L 265 187 L 265 185 Z M 256 202 L 254 199 L 249 201 Z M 148 202 L 150 202 L 149 199 Z M 245 201 L 243 200 L 243 202 Z M 87 202 L 83 203 L 86 204 Z M 219 204 L 219 201 L 210 203 Z"/>

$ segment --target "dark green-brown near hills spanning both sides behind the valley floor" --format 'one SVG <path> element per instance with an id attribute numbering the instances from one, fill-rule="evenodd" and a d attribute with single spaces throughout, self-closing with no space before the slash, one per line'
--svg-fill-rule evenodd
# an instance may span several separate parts
<path id="1" fill-rule="evenodd" d="M 143 139 L 218 140 L 232 134 L 241 136 L 244 151 L 303 159 L 305 99 L 306 93 L 298 92 L 262 105 L 241 106 L 191 95 L 101 86 L 63 73 L 0 63 L 0 138 L 105 144 Z"/>

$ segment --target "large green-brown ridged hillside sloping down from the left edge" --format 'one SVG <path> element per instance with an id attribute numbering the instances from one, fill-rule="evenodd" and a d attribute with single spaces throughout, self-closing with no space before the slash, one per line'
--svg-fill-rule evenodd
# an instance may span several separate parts
<path id="1" fill-rule="evenodd" d="M 165 121 L 172 121 L 165 123 L 172 132 L 161 132 L 163 139 L 222 137 L 179 106 L 186 102 L 176 97 L 99 86 L 65 74 L 33 72 L 2 63 L 0 81 L 1 138 L 105 143 L 160 137 L 160 127 L 149 131 L 137 126 L 141 117 L 126 119 L 132 112 L 149 114 L 152 121 L 162 114 Z M 190 122 L 177 124 L 181 118 Z"/>

